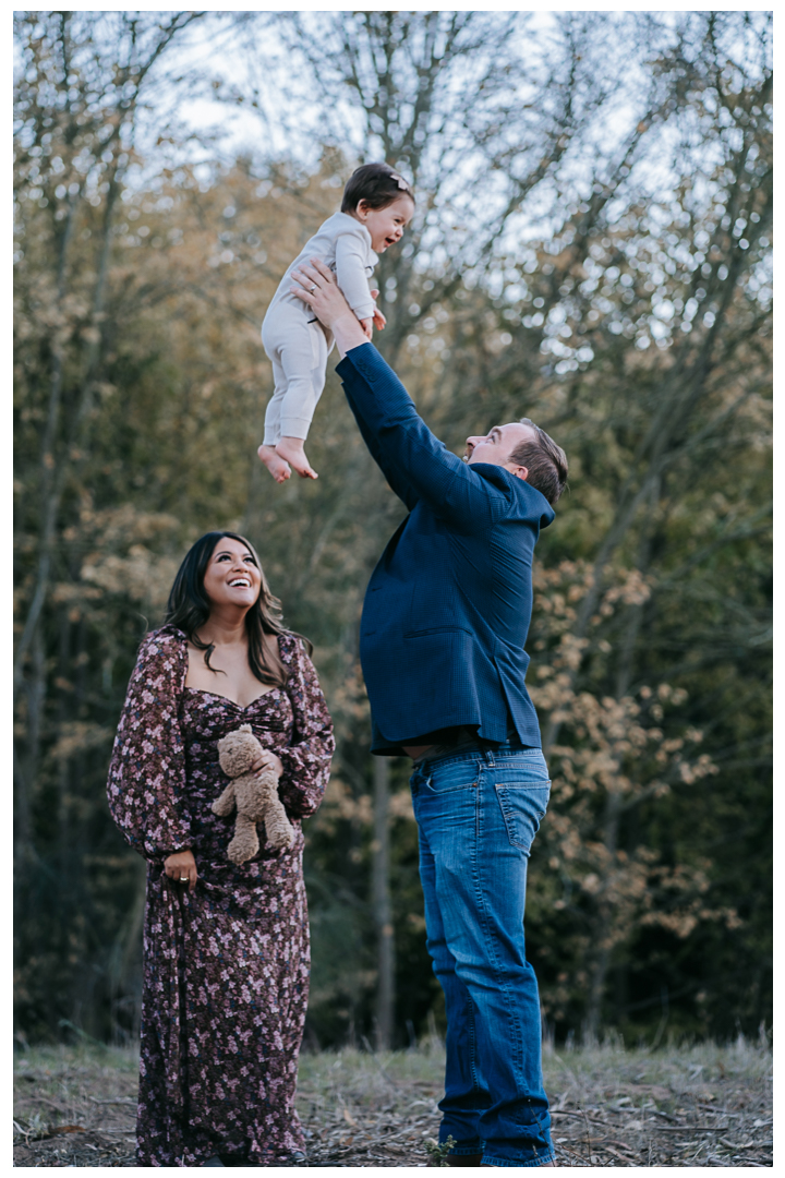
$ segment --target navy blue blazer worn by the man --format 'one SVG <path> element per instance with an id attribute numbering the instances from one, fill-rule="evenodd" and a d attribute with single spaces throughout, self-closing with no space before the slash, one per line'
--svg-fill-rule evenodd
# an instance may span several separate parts
<path id="1" fill-rule="evenodd" d="M 468 465 L 439 442 L 373 344 L 337 372 L 368 450 L 410 515 L 365 595 L 360 662 L 373 716 L 372 752 L 440 728 L 477 726 L 540 746 L 526 690 L 532 555 L 553 509 L 503 466 Z"/>

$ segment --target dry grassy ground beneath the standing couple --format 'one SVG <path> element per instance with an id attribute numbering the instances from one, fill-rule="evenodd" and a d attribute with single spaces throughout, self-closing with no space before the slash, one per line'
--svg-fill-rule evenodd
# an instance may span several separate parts
<path id="1" fill-rule="evenodd" d="M 550 1052 L 544 1066 L 560 1166 L 772 1165 L 767 1046 L 604 1046 Z M 435 1040 L 302 1055 L 308 1165 L 428 1165 L 443 1068 Z M 133 1052 L 34 1047 L 18 1057 L 14 1083 L 14 1165 L 134 1165 Z"/>

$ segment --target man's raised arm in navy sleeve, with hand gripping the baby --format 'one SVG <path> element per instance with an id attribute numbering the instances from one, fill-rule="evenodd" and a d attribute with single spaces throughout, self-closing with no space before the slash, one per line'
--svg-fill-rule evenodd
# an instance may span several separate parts
<path id="1" fill-rule="evenodd" d="M 417 412 L 414 402 L 361 326 L 321 263 L 294 271 L 292 287 L 335 337 L 342 357 L 338 373 L 360 431 L 397 495 L 413 507 L 427 499 L 437 514 L 461 527 L 491 523 L 504 515 L 511 492 L 481 478 L 440 442 Z"/>

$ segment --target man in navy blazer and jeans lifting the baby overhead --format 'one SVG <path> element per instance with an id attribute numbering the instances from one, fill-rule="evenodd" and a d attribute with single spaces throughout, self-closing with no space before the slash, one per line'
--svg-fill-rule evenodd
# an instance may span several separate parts
<path id="1" fill-rule="evenodd" d="M 360 659 L 372 752 L 414 761 L 427 945 L 447 1013 L 439 1140 L 457 1143 L 454 1165 L 552 1166 L 523 924 L 550 782 L 524 642 L 532 554 L 567 462 L 528 421 L 470 437 L 461 462 L 420 419 L 327 267 L 295 277 L 335 337 L 366 445 L 410 509 L 368 584 Z"/>

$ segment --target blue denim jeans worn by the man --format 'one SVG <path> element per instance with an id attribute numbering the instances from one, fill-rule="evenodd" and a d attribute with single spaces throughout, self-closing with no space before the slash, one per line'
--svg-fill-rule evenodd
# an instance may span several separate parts
<path id="1" fill-rule="evenodd" d="M 540 749 L 455 753 L 412 774 L 427 947 L 447 1011 L 439 1140 L 494 1166 L 553 1160 L 537 979 L 524 948 L 528 852 L 551 783 Z"/>

